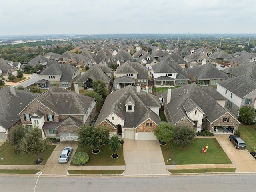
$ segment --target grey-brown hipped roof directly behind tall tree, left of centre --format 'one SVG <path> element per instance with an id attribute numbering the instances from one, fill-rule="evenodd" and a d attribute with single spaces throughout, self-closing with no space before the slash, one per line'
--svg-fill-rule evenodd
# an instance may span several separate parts
<path id="1" fill-rule="evenodd" d="M 101 66 L 98 64 L 93 65 L 88 71 L 80 76 L 80 78 L 78 78 L 75 83 L 85 83 L 88 78 L 91 78 L 92 80 L 99 79 L 106 83 L 108 83 L 111 79 L 110 76 L 102 71 Z"/>

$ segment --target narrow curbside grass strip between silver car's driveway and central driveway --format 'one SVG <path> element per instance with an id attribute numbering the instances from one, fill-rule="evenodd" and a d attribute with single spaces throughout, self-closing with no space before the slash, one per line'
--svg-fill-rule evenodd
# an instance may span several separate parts
<path id="1" fill-rule="evenodd" d="M 71 175 L 120 175 L 124 170 L 69 170 Z"/>

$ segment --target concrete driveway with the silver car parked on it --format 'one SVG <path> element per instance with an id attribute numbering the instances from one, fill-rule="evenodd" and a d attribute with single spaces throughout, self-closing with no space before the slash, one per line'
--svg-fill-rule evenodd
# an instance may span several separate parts
<path id="1" fill-rule="evenodd" d="M 70 160 L 67 163 L 59 163 L 59 157 L 61 151 L 66 146 L 71 146 L 73 148 L 73 152 L 70 156 Z M 44 168 L 42 169 L 43 175 L 66 175 L 68 174 L 68 167 L 70 165 L 70 162 L 72 160 L 73 155 L 76 152 L 76 149 L 78 147 L 78 142 L 75 141 L 60 141 L 58 142 L 56 148 L 52 152 L 50 158 L 47 160 L 46 164 L 44 165 Z"/>

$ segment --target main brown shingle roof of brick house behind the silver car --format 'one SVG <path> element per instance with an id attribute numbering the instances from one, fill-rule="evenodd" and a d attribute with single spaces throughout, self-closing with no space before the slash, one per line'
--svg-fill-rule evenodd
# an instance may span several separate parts
<path id="1" fill-rule="evenodd" d="M 36 101 L 46 106 L 55 114 L 85 114 L 94 98 L 77 94 L 76 92 L 52 86 L 44 92 Z"/>

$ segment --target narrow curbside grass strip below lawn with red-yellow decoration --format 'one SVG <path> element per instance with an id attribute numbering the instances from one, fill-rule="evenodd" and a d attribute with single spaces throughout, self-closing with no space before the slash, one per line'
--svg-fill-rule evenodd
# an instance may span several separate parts
<path id="1" fill-rule="evenodd" d="M 236 168 L 209 168 L 209 169 L 168 169 L 172 174 L 175 173 L 218 173 L 218 172 L 235 172 Z"/>

